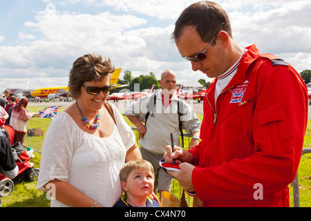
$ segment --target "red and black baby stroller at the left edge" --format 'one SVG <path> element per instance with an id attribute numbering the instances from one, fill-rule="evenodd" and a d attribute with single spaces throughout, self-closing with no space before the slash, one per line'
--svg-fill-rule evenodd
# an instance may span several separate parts
<path id="1" fill-rule="evenodd" d="M 37 180 L 39 175 L 39 169 L 34 168 L 33 164 L 30 163 L 30 157 L 28 156 L 26 149 L 20 142 L 13 144 L 15 131 L 12 126 L 0 127 L 0 135 L 10 140 L 12 152 L 15 158 L 15 162 L 19 167 L 19 172 L 14 179 L 10 179 L 0 174 L 0 198 L 6 197 L 12 193 L 14 184 L 21 182 L 22 180 Z"/>

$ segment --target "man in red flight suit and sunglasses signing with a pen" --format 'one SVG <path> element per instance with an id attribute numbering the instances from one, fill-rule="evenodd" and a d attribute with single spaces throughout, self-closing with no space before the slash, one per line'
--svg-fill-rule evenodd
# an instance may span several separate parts
<path id="1" fill-rule="evenodd" d="M 165 161 L 181 163 L 169 174 L 203 206 L 289 206 L 308 121 L 300 75 L 254 45 L 238 46 L 214 2 L 186 8 L 173 38 L 194 71 L 215 79 L 204 101 L 202 141 L 189 151 L 167 146 Z"/>

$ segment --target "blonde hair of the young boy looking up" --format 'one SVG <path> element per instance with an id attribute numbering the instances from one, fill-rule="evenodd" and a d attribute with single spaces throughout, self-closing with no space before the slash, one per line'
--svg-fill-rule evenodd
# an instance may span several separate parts
<path id="1" fill-rule="evenodd" d="M 152 164 L 147 160 L 137 159 L 137 160 L 131 160 L 129 162 L 126 162 L 126 164 L 122 166 L 121 171 L 120 171 L 121 181 L 126 182 L 127 177 L 129 177 L 129 174 L 131 173 L 131 171 L 138 170 L 138 169 L 151 171 L 153 178 L 154 178 Z"/>

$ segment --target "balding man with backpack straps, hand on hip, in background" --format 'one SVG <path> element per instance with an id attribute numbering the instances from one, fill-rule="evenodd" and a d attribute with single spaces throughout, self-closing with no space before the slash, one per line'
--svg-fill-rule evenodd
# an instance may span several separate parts
<path id="1" fill-rule="evenodd" d="M 200 119 L 191 106 L 176 95 L 176 73 L 164 70 L 160 86 L 162 90 L 159 92 L 142 97 L 127 106 L 123 115 L 138 129 L 142 158 L 153 165 L 156 178 L 154 191 L 158 189 L 161 194 L 162 191 L 171 190 L 173 180 L 159 166 L 165 153 L 164 147 L 171 144 L 170 134 L 173 134 L 173 140 L 179 146 L 180 131 L 185 129 L 192 135 L 189 144 L 189 148 L 192 148 L 199 142 Z"/>

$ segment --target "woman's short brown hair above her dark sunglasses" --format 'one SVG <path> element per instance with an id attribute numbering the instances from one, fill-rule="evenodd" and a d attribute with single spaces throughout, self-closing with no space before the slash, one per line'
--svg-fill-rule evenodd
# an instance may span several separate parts
<path id="1" fill-rule="evenodd" d="M 101 55 L 84 55 L 73 62 L 73 68 L 69 73 L 69 93 L 73 99 L 78 99 L 81 94 L 81 86 L 86 81 L 98 81 L 104 79 L 115 71 L 111 60 Z"/>

